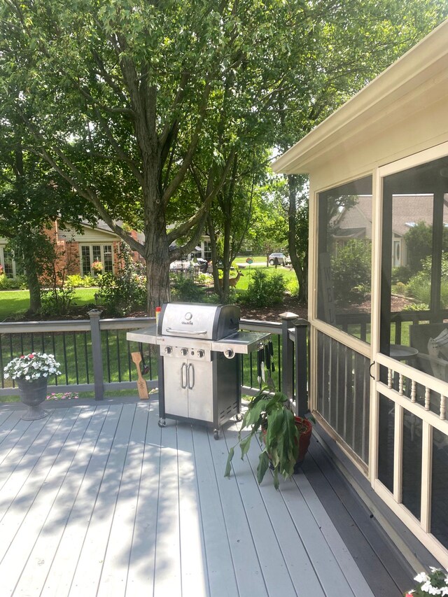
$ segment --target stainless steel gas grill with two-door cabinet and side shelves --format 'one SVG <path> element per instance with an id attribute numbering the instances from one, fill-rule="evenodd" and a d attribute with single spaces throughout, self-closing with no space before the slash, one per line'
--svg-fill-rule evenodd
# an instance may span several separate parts
<path id="1" fill-rule="evenodd" d="M 269 334 L 239 330 L 232 304 L 164 304 L 155 323 L 127 339 L 160 346 L 159 425 L 165 419 L 221 425 L 241 411 L 241 354 L 256 351 Z"/>

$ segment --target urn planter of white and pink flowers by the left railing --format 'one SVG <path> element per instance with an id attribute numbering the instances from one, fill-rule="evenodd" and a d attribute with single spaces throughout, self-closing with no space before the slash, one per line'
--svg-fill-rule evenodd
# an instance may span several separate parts
<path id="1" fill-rule="evenodd" d="M 22 419 L 36 421 L 48 414 L 40 404 L 47 396 L 48 376 L 61 373 L 58 367 L 52 354 L 38 352 L 13 358 L 4 367 L 5 378 L 17 382 L 20 400 L 28 407 Z"/>

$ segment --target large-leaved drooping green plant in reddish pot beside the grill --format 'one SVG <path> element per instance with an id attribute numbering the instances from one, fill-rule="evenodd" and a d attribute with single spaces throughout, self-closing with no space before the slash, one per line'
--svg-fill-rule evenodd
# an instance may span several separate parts
<path id="1" fill-rule="evenodd" d="M 242 437 L 241 431 L 249 428 L 250 433 Z M 258 483 L 262 482 L 265 472 L 271 468 L 274 471 L 275 489 L 279 489 L 279 474 L 288 479 L 302 463 L 311 439 L 311 430 L 308 419 L 294 416 L 286 395 L 263 388 L 248 405 L 236 446 L 239 445 L 243 460 L 252 438 L 258 433 L 264 444 L 257 467 Z M 235 447 L 230 448 L 225 477 L 230 477 Z"/>

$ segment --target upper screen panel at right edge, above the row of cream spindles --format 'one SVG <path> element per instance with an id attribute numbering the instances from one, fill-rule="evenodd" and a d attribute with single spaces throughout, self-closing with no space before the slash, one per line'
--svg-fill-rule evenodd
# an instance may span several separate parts
<path id="1" fill-rule="evenodd" d="M 381 258 L 381 352 L 444 381 L 447 173 L 448 157 L 443 157 L 384 178 Z M 403 356 L 400 346 L 412 351 Z M 401 356 L 395 356 L 398 349 Z"/>

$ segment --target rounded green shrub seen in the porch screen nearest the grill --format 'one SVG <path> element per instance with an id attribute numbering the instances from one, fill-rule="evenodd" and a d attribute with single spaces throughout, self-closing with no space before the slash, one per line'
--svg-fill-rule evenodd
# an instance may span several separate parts
<path id="1" fill-rule="evenodd" d="M 340 302 L 358 302 L 370 293 L 372 244 L 351 240 L 332 258 L 335 298 Z"/>

